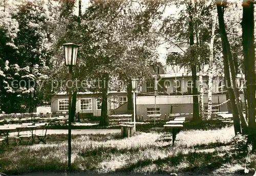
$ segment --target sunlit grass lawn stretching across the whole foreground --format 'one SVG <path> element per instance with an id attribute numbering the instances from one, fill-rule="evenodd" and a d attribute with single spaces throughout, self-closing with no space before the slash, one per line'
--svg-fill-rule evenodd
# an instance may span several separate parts
<path id="1" fill-rule="evenodd" d="M 138 132 L 122 139 L 120 134 L 72 136 L 72 164 L 76 171 L 110 172 L 203 172 L 219 175 L 243 169 L 247 153 L 233 145 L 233 127 L 212 130 Z M 18 146 L 0 153 L 0 172 L 65 171 L 67 135 L 49 135 L 47 144 Z M 247 167 L 255 167 L 255 155 Z"/>

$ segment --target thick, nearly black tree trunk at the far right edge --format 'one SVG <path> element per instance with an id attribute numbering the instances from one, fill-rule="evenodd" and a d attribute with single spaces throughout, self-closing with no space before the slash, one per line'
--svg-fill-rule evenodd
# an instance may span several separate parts
<path id="1" fill-rule="evenodd" d="M 256 142 L 255 125 L 255 47 L 254 47 L 254 1 L 243 2 L 242 45 L 248 103 L 249 141 Z"/>

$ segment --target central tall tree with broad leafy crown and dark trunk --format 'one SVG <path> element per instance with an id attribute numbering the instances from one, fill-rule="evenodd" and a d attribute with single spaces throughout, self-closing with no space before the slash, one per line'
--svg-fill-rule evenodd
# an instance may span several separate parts
<path id="1" fill-rule="evenodd" d="M 70 24 L 62 40 L 78 43 L 80 62 L 75 72 L 78 79 L 92 79 L 92 89 L 101 92 L 100 125 L 108 125 L 108 92 L 113 88 L 108 81 L 151 75 L 148 58 L 156 60 L 156 37 L 152 35 L 151 12 L 127 1 L 92 1 L 81 16 L 80 25 Z M 75 32 L 74 32 L 75 31 Z"/>

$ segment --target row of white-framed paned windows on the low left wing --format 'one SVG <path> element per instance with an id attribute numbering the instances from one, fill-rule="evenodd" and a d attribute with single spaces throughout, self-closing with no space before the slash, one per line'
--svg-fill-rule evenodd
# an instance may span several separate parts
<path id="1" fill-rule="evenodd" d="M 118 97 L 109 99 L 110 109 L 116 109 L 118 106 L 127 102 L 127 97 Z M 59 101 L 59 111 L 68 111 L 69 110 L 69 100 L 60 99 Z M 92 110 L 92 98 L 80 99 L 80 109 L 81 110 Z M 97 99 L 97 109 L 101 109 L 101 99 Z"/>

